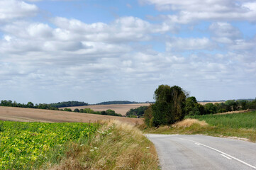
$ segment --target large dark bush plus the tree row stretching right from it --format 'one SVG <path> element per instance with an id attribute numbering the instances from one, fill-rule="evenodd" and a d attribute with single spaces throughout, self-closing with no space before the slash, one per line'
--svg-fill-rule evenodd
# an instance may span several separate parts
<path id="1" fill-rule="evenodd" d="M 206 103 L 201 105 L 194 96 L 179 86 L 160 85 L 155 90 L 155 103 L 144 111 L 145 124 L 152 127 L 171 125 L 182 120 L 186 115 L 206 115 L 228 111 L 256 109 L 256 98 L 253 101 L 228 100 L 224 103 Z"/>

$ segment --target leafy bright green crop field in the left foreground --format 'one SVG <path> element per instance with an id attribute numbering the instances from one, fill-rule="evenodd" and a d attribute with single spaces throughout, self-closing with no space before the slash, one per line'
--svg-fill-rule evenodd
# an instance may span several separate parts
<path id="1" fill-rule="evenodd" d="M 48 152 L 67 142 L 87 141 L 98 124 L 0 121 L 0 169 L 38 169 Z"/>

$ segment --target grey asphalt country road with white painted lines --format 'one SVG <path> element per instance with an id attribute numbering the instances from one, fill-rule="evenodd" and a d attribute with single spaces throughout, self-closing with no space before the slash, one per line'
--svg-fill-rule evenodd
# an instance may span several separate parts
<path id="1" fill-rule="evenodd" d="M 256 169 L 256 144 L 204 135 L 146 135 L 169 169 Z"/>

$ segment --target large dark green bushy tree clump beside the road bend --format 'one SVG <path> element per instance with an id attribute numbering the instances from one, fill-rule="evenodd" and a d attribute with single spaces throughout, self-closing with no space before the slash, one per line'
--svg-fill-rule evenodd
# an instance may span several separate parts
<path id="1" fill-rule="evenodd" d="M 185 102 L 186 95 L 179 86 L 158 86 L 155 90 L 155 104 L 145 111 L 145 123 L 157 127 L 182 120 L 185 116 Z"/>

